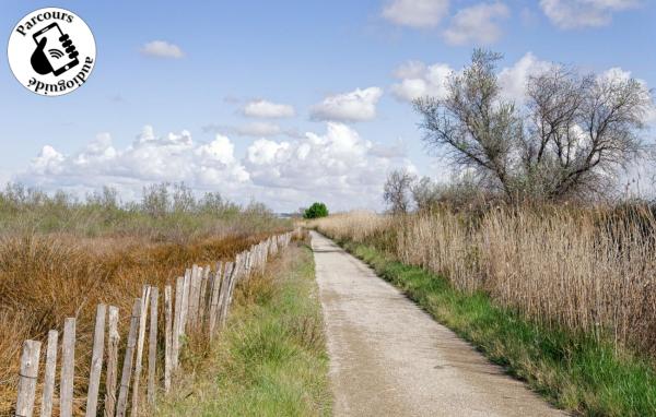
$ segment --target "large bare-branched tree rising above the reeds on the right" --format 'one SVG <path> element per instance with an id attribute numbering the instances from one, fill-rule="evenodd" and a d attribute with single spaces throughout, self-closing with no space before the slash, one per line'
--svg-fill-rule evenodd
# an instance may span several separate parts
<path id="1" fill-rule="evenodd" d="M 501 94 L 501 56 L 477 49 L 445 98 L 414 102 L 424 141 L 472 167 L 508 199 L 598 194 L 642 150 L 652 92 L 626 78 L 582 75 L 552 64 L 531 76 L 527 103 Z"/>

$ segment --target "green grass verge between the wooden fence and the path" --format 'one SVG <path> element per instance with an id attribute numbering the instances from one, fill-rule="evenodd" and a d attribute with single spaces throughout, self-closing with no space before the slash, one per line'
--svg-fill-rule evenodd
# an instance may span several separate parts
<path id="1" fill-rule="evenodd" d="M 328 416 L 328 356 L 307 247 L 237 294 L 227 330 L 156 416 Z"/>

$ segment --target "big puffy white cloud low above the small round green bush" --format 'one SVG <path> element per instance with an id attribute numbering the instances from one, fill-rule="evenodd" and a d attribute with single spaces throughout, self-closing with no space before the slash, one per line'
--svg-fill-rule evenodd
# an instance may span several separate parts
<path id="1" fill-rule="evenodd" d="M 380 204 L 380 190 L 395 166 L 414 169 L 407 159 L 375 152 L 352 128 L 328 122 L 325 133 L 306 133 L 293 142 L 260 139 L 247 150 L 244 165 L 254 183 L 291 189 L 317 199 L 341 202 L 341 207 Z M 312 200 L 312 199 L 311 199 Z"/>

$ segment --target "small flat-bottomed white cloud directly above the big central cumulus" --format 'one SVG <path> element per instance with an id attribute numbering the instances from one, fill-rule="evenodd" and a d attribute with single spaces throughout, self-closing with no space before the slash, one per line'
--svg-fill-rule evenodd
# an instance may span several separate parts
<path id="1" fill-rule="evenodd" d="M 309 109 L 311 117 L 314 120 L 344 122 L 373 120 L 382 95 L 382 88 L 368 87 L 328 96 Z"/>

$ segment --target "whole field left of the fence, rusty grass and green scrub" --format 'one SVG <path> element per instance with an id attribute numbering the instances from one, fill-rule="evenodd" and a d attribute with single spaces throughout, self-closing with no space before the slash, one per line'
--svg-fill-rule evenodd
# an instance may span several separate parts
<path id="1" fill-rule="evenodd" d="M 0 415 L 9 415 L 15 403 L 24 339 L 43 342 L 48 330 L 61 330 L 65 318 L 78 318 L 74 407 L 80 412 L 97 303 L 119 308 L 119 331 L 127 334 L 132 300 L 143 284 L 171 284 L 191 264 L 213 269 L 291 228 L 257 205 L 173 207 L 153 212 L 144 203 L 126 207 L 61 195 L 1 195 Z"/>

